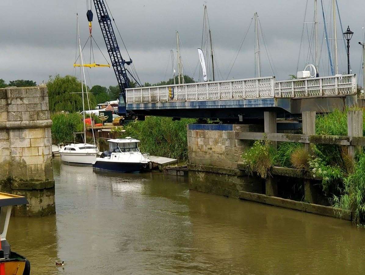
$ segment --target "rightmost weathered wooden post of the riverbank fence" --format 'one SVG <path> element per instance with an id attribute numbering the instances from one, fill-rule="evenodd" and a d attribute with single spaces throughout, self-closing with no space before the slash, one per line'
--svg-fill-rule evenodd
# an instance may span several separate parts
<path id="1" fill-rule="evenodd" d="M 362 111 L 347 112 L 347 135 L 362 137 Z M 361 146 L 348 146 L 349 157 L 354 160 L 355 155 L 361 152 Z"/>

